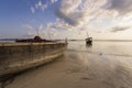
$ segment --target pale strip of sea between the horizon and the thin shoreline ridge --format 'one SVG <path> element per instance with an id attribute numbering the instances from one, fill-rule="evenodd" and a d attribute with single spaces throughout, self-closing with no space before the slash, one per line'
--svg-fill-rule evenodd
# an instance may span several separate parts
<path id="1" fill-rule="evenodd" d="M 94 54 L 102 53 L 107 55 L 132 56 L 132 42 L 94 42 L 88 46 L 84 41 L 70 42 L 68 50 L 80 52 L 91 52 Z"/>

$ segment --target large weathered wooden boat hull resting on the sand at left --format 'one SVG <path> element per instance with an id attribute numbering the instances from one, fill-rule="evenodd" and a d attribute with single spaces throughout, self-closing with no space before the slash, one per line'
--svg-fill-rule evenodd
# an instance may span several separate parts
<path id="1" fill-rule="evenodd" d="M 67 42 L 42 40 L 40 36 L 0 43 L 0 78 L 48 63 L 62 56 Z"/>

